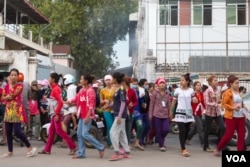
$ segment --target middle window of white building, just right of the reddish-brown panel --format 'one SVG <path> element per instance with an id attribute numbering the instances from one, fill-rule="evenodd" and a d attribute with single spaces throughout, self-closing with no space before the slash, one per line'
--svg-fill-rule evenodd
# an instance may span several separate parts
<path id="1" fill-rule="evenodd" d="M 193 0 L 193 24 L 212 25 L 212 0 Z"/>

